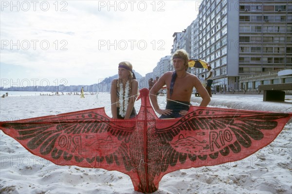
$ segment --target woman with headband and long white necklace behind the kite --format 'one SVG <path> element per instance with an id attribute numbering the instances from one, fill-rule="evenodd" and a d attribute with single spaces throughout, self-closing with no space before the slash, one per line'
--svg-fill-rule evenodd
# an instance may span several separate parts
<path id="1" fill-rule="evenodd" d="M 138 81 L 128 61 L 119 63 L 118 79 L 111 82 L 110 101 L 113 119 L 129 119 L 136 116 L 134 103 L 138 95 Z"/>

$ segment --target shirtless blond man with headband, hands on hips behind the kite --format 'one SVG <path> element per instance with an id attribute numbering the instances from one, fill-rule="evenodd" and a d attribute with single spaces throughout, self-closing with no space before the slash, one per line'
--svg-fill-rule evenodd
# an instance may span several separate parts
<path id="1" fill-rule="evenodd" d="M 165 72 L 149 92 L 152 106 L 157 113 L 161 114 L 161 119 L 178 118 L 186 115 L 189 110 L 193 87 L 197 89 L 202 98 L 200 106 L 207 106 L 211 100 L 199 78 L 187 72 L 188 60 L 188 53 L 185 50 L 176 51 L 172 56 L 175 71 Z M 167 103 L 165 109 L 160 109 L 156 94 L 164 85 L 167 88 Z"/>

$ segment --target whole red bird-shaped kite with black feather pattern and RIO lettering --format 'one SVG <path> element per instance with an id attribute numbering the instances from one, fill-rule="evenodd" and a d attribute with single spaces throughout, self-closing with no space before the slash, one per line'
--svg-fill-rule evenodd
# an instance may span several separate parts
<path id="1" fill-rule="evenodd" d="M 170 172 L 244 159 L 270 144 L 292 113 L 191 106 L 177 119 L 159 119 L 140 90 L 136 118 L 111 119 L 104 108 L 18 121 L 0 129 L 32 154 L 57 165 L 116 170 L 142 193 L 158 190 Z"/>

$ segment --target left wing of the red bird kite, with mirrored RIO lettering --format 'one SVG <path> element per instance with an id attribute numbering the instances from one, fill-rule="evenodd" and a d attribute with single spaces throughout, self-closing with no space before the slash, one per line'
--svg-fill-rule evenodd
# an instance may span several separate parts
<path id="1" fill-rule="evenodd" d="M 5 134 L 55 164 L 124 173 L 134 168 L 127 146 L 135 126 L 110 119 L 104 108 L 0 123 Z"/>

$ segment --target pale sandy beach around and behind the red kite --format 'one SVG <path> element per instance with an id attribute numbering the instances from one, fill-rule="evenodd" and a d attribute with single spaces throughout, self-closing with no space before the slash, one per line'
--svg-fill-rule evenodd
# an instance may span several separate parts
<path id="1" fill-rule="evenodd" d="M 159 96 L 164 107 L 165 96 Z M 223 102 L 224 101 L 224 102 Z M 192 97 L 198 105 L 200 98 Z M 135 103 L 139 111 L 141 101 Z M 292 112 L 292 104 L 262 102 L 262 96 L 214 95 L 210 106 Z M 110 94 L 9 96 L 0 99 L 1 121 L 18 120 L 105 107 Z M 216 166 L 190 168 L 165 175 L 154 194 L 291 194 L 292 122 L 268 146 L 248 158 Z M 32 155 L 0 131 L 1 194 L 139 194 L 129 176 L 104 169 L 58 166 Z"/>

